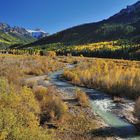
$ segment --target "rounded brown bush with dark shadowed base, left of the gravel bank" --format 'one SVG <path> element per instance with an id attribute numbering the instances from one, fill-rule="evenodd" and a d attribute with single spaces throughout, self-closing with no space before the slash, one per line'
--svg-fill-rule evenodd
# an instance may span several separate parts
<path id="1" fill-rule="evenodd" d="M 46 92 L 45 92 L 46 93 Z M 67 105 L 57 95 L 54 88 L 48 88 L 47 94 L 43 94 L 40 99 L 41 106 L 41 123 L 45 121 L 59 121 L 63 120 L 66 112 Z"/>

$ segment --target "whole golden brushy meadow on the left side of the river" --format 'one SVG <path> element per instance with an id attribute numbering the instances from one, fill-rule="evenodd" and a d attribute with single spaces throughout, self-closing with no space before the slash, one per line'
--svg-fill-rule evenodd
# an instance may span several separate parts
<path id="1" fill-rule="evenodd" d="M 45 74 L 48 80 L 48 73 L 79 60 L 72 57 L 0 55 L 1 140 L 93 139 L 91 130 L 100 129 L 103 125 L 87 105 L 85 93 L 76 92 L 73 97 L 75 103 L 69 104 L 54 86 L 46 87 L 43 80 L 32 79 Z M 26 81 L 30 78 L 32 80 Z M 96 134 L 94 139 L 105 138 Z"/>

